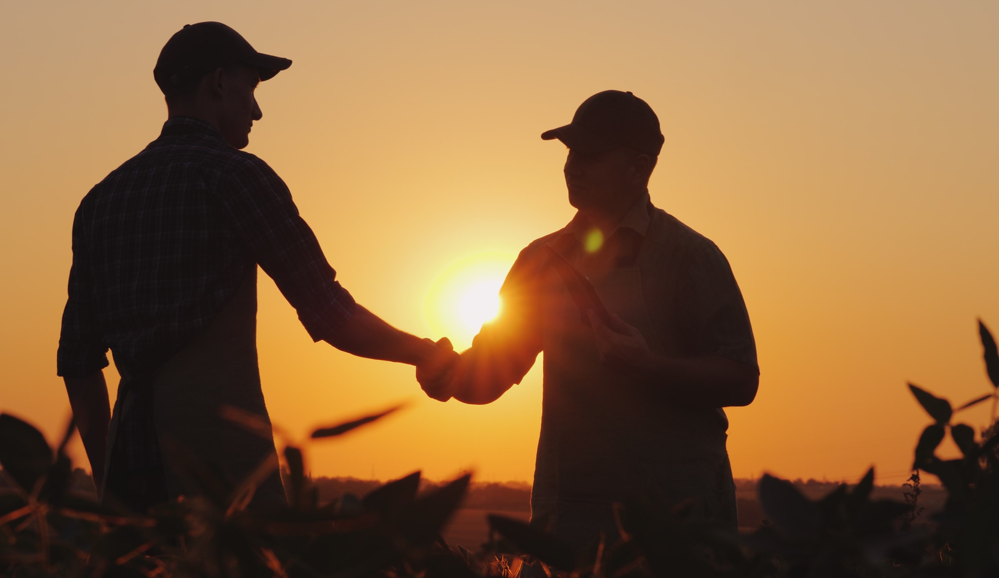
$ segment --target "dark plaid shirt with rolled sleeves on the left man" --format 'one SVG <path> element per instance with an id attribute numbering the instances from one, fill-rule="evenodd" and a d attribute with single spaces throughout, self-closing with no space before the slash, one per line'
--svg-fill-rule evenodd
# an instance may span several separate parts
<path id="1" fill-rule="evenodd" d="M 95 186 L 73 221 L 58 373 L 155 370 L 260 267 L 314 340 L 354 312 L 280 177 L 203 121 L 177 117 Z"/>

